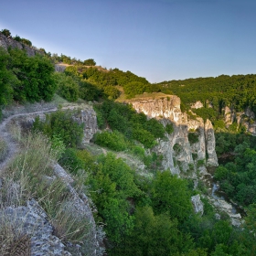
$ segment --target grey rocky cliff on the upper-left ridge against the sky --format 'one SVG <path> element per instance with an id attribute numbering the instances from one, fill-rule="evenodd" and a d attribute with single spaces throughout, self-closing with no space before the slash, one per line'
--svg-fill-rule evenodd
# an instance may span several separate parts
<path id="1" fill-rule="evenodd" d="M 9 47 L 25 49 L 27 51 L 28 56 L 35 56 L 36 53 L 44 54 L 42 51 L 38 50 L 37 48 L 30 48 L 25 44 L 17 42 L 12 37 L 5 37 L 5 35 L 3 35 L 1 32 L 0 32 L 0 47 L 3 47 L 5 49 Z"/>

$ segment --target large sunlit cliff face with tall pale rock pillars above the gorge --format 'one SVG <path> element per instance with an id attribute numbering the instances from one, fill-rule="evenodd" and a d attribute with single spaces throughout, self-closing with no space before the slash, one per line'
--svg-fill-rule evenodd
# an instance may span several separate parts
<path id="1" fill-rule="evenodd" d="M 163 167 L 173 174 L 193 171 L 197 167 L 204 171 L 205 166 L 218 165 L 215 153 L 215 136 L 210 121 L 201 118 L 189 119 L 180 110 L 180 99 L 169 95 L 157 99 L 131 101 L 136 112 L 144 112 L 149 118 L 156 118 L 166 125 L 173 123 L 174 133 L 167 140 L 159 141 L 155 151 L 164 156 Z M 189 133 L 197 139 L 189 142 Z"/>

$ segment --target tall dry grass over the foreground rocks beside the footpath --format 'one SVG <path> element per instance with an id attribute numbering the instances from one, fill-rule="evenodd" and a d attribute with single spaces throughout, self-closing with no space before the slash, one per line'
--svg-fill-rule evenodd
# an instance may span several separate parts
<path id="1" fill-rule="evenodd" d="M 86 240 L 90 229 L 88 220 L 74 214 L 69 188 L 51 169 L 59 153 L 51 149 L 48 139 L 41 133 L 28 133 L 26 137 L 16 129 L 15 133 L 22 149 L 0 176 L 0 212 L 6 207 L 23 206 L 28 198 L 35 197 L 60 239 Z M 22 251 L 15 254 L 30 240 L 14 227 L 15 222 L 15 217 L 10 222 L 4 215 L 0 216 L 0 255 L 29 255 Z M 16 251 L 10 252 L 15 248 Z"/>

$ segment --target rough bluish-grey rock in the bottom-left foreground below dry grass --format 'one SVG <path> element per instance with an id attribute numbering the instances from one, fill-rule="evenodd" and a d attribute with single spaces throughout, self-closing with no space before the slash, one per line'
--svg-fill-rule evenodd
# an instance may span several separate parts
<path id="1" fill-rule="evenodd" d="M 4 208 L 0 211 L 0 221 L 8 223 L 9 227 L 18 232 L 19 237 L 27 236 L 29 242 L 22 242 L 20 248 L 12 255 L 21 255 L 21 251 L 29 251 L 32 256 L 71 255 L 65 251 L 65 245 L 53 235 L 53 228 L 48 222 L 48 216 L 35 199 L 27 201 L 27 207 Z M 3 225 L 2 225 L 3 227 Z M 19 253 L 18 253 L 19 252 Z"/>

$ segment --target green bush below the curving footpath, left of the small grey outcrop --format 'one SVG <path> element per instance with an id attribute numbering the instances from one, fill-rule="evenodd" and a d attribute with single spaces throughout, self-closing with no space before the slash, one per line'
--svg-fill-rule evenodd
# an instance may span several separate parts
<path id="1" fill-rule="evenodd" d="M 83 124 L 73 120 L 75 112 L 52 112 L 47 115 L 45 121 L 36 118 L 33 130 L 38 130 L 52 137 L 58 134 L 67 147 L 75 147 L 81 143 L 83 137 Z"/>

